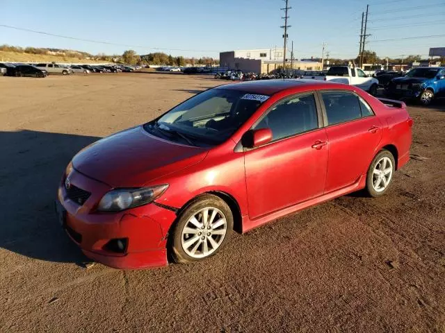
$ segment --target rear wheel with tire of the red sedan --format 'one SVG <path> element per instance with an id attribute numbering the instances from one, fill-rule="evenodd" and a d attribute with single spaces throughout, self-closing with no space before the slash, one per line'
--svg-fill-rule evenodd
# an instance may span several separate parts
<path id="1" fill-rule="evenodd" d="M 366 173 L 366 193 L 373 198 L 385 194 L 391 186 L 395 170 L 394 156 L 386 149 L 382 149 L 375 155 Z"/>

